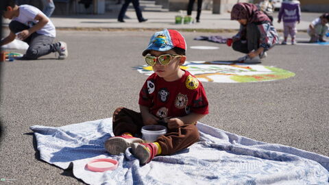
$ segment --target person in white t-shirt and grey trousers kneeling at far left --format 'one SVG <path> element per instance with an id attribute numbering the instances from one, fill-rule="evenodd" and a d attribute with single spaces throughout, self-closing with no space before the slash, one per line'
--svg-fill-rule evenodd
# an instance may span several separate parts
<path id="1" fill-rule="evenodd" d="M 14 0 L 5 0 L 3 18 L 12 19 L 10 34 L 0 41 L 1 45 L 12 42 L 16 36 L 27 42 L 29 48 L 21 60 L 35 60 L 51 52 L 58 52 L 59 59 L 68 56 L 65 42 L 53 43 L 56 29 L 50 19 L 32 5 L 16 5 Z"/>

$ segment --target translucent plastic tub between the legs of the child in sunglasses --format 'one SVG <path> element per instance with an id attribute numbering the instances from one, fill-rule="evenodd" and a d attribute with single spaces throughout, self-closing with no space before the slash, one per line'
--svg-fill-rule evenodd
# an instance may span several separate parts
<path id="1" fill-rule="evenodd" d="M 147 143 L 154 142 L 159 136 L 167 133 L 167 128 L 162 125 L 146 125 L 141 130 L 143 140 Z"/>

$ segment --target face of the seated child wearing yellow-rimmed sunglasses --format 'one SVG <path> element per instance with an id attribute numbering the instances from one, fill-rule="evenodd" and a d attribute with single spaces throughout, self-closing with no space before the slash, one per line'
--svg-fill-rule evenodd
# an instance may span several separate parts
<path id="1" fill-rule="evenodd" d="M 163 54 L 172 54 L 177 55 L 175 51 L 150 51 L 149 54 L 151 56 L 161 56 Z M 178 76 L 178 72 L 180 71 L 180 64 L 184 64 L 185 56 L 179 56 L 175 58 L 171 58 L 171 61 L 168 65 L 164 66 L 160 64 L 158 59 L 156 60 L 156 64 L 152 66 L 153 71 L 160 77 L 163 77 L 167 81 L 171 81 L 172 79 L 175 80 L 175 77 Z"/>

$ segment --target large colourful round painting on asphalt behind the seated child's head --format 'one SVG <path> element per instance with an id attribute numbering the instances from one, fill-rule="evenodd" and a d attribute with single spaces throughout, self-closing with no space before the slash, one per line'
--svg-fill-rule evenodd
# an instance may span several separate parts
<path id="1" fill-rule="evenodd" d="M 201 82 L 242 83 L 264 82 L 285 79 L 295 76 L 295 73 L 274 66 L 260 64 L 243 64 L 234 62 L 185 62 L 182 69 L 195 75 Z M 154 73 L 151 66 L 137 66 L 137 71 L 145 75 Z"/>

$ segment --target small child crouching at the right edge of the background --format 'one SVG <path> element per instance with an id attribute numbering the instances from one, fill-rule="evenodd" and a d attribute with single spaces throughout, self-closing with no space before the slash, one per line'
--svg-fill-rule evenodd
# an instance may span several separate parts
<path id="1" fill-rule="evenodd" d="M 328 30 L 329 13 L 322 14 L 320 17 L 310 23 L 307 33 L 310 36 L 310 42 L 326 42 L 324 36 Z"/>

